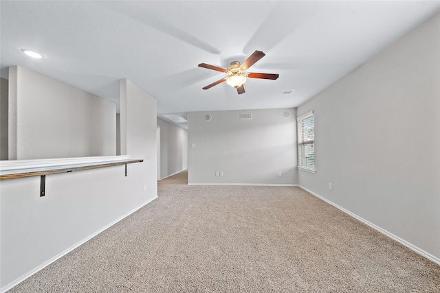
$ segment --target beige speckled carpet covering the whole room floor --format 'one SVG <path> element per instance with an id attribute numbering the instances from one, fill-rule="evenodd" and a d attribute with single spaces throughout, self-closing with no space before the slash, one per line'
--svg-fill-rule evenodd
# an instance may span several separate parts
<path id="1" fill-rule="evenodd" d="M 440 292 L 440 266 L 298 187 L 188 186 L 10 292 Z"/>

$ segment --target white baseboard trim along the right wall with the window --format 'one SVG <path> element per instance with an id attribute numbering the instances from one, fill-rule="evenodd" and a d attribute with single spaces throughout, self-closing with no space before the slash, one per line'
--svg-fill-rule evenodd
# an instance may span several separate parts
<path id="1" fill-rule="evenodd" d="M 434 257 L 434 255 L 431 255 L 430 253 L 427 253 L 425 250 L 410 244 L 410 242 L 407 242 L 404 239 L 401 239 L 400 237 L 394 235 L 393 233 L 390 233 L 386 231 L 384 228 L 380 228 L 380 226 L 376 226 L 375 224 L 365 220 L 364 218 L 361 218 L 359 215 L 356 215 L 355 213 L 352 213 L 351 211 L 344 209 L 343 207 L 338 206 L 338 204 L 335 204 L 334 202 L 331 202 L 330 200 L 327 200 L 327 198 L 323 198 L 322 196 L 314 193 L 314 191 L 311 191 L 301 185 L 298 185 L 301 189 L 307 191 L 309 194 L 316 196 L 317 198 L 320 198 L 321 200 L 324 200 L 325 202 L 331 204 L 333 207 L 336 207 L 340 211 L 343 211 L 344 213 L 347 213 L 347 215 L 350 215 L 351 217 L 355 218 L 356 220 L 359 220 L 360 222 L 366 224 L 367 226 L 370 226 L 371 228 L 375 229 L 376 231 L 379 231 L 380 233 L 386 235 L 387 237 L 390 237 L 391 239 L 399 242 L 400 244 L 410 248 L 410 250 L 415 251 L 415 253 L 418 253 L 422 257 L 426 257 L 430 261 L 434 261 L 434 263 L 437 263 L 440 265 L 440 259 L 438 257 Z"/>

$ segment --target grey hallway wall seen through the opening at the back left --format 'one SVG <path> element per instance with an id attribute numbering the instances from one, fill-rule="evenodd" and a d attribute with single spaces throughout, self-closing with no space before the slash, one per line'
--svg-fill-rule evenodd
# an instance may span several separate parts
<path id="1" fill-rule="evenodd" d="M 188 131 L 157 118 L 160 127 L 160 178 L 188 169 Z"/>

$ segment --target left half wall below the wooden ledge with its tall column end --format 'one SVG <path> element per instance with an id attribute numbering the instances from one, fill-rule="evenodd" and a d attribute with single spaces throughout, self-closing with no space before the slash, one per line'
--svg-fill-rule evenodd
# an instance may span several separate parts
<path id="1" fill-rule="evenodd" d="M 157 198 L 156 100 L 126 80 L 121 100 L 126 153 L 144 160 L 128 176 L 124 165 L 47 175 L 43 198 L 39 176 L 1 181 L 1 291 Z"/>

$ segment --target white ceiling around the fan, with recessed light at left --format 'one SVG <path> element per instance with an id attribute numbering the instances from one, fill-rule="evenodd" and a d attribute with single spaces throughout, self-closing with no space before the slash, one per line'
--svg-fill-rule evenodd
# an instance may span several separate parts
<path id="1" fill-rule="evenodd" d="M 303 104 L 430 16 L 440 1 L 1 1 L 1 76 L 21 65 L 118 104 L 120 78 L 157 98 L 157 115 Z M 423 45 L 423 44 L 421 44 Z M 21 49 L 45 58 L 25 56 Z M 253 51 L 245 93 L 225 73 Z M 292 95 L 283 90 L 295 89 Z"/>

